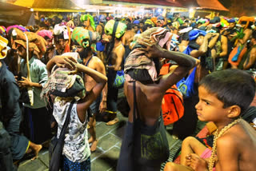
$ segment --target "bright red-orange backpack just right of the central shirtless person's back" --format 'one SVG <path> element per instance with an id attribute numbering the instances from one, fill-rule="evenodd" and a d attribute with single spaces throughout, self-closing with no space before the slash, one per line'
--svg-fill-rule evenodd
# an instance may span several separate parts
<path id="1" fill-rule="evenodd" d="M 164 64 L 160 70 L 160 75 L 168 74 L 170 63 Z M 176 85 L 172 85 L 167 89 L 166 94 L 162 98 L 162 117 L 164 125 L 170 125 L 178 121 L 184 114 L 184 105 L 182 93 Z"/>

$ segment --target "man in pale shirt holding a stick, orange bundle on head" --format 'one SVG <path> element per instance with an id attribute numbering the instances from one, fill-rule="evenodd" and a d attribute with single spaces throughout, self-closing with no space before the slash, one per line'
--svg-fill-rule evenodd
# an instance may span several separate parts
<path id="1" fill-rule="evenodd" d="M 14 40 L 12 48 L 18 50 L 18 55 L 22 58 L 20 74 L 16 79 L 20 89 L 32 89 L 32 94 L 29 94 L 29 101 L 22 98 L 24 104 L 24 134 L 31 141 L 41 144 L 50 139 L 50 114 L 46 109 L 45 100 L 40 97 L 42 86 L 48 80 L 48 74 L 46 65 L 38 59 L 38 54 L 46 52 L 46 43 L 38 34 L 25 32 L 29 45 L 29 54 L 27 54 L 26 37 L 22 31 L 16 30 L 16 32 L 17 38 Z M 28 76 L 30 76 L 30 79 Z"/>

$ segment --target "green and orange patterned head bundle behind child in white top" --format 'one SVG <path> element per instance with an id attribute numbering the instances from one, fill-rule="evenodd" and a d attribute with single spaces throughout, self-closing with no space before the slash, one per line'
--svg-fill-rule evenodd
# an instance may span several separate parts
<path id="1" fill-rule="evenodd" d="M 71 38 L 75 43 L 78 43 L 80 46 L 87 48 L 90 47 L 94 52 L 96 50 L 96 42 L 101 38 L 98 32 L 92 32 L 90 30 L 85 30 L 82 27 L 76 27 L 71 34 Z"/>

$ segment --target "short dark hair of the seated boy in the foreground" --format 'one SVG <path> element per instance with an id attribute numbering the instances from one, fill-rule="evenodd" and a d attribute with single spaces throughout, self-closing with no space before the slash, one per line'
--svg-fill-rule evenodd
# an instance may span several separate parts
<path id="1" fill-rule="evenodd" d="M 223 108 L 238 105 L 241 113 L 246 111 L 255 95 L 254 78 L 242 70 L 215 71 L 202 78 L 201 85 L 224 103 Z"/>

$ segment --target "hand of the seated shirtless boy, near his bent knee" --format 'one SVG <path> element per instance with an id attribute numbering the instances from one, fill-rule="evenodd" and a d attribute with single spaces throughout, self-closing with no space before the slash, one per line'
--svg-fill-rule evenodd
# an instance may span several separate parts
<path id="1" fill-rule="evenodd" d="M 208 166 L 207 161 L 195 153 L 190 153 L 186 156 L 186 165 L 197 171 L 205 171 Z"/>

